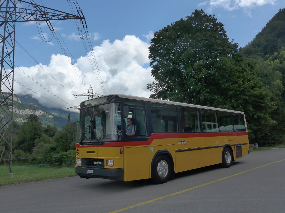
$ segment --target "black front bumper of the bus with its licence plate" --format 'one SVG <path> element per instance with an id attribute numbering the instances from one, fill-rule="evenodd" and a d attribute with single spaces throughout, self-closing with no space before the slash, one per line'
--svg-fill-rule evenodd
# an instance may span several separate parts
<path id="1" fill-rule="evenodd" d="M 87 171 L 88 170 L 88 171 Z M 80 178 L 104 178 L 110 180 L 124 180 L 124 169 L 104 169 L 75 166 L 75 173 Z"/>

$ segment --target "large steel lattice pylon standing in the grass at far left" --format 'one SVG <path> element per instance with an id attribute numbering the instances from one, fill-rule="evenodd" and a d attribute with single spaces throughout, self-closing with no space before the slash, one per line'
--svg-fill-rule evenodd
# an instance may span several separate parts
<path id="1" fill-rule="evenodd" d="M 0 0 L 0 7 L 0 162 L 1 160 L 8 162 L 12 175 L 15 24 L 16 22 L 45 21 L 51 29 L 52 20 L 81 19 L 84 24 L 85 18 L 80 9 L 77 9 L 79 15 L 77 16 L 21 0 Z M 85 27 L 86 22 L 84 29 Z"/>

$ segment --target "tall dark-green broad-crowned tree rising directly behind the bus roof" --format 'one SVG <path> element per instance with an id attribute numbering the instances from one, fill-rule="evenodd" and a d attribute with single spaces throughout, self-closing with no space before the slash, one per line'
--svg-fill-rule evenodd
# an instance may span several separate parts
<path id="1" fill-rule="evenodd" d="M 224 25 L 203 10 L 155 32 L 148 57 L 155 79 L 147 85 L 154 92 L 150 97 L 203 103 L 199 94 L 216 75 L 220 58 L 232 56 L 237 47 Z"/>

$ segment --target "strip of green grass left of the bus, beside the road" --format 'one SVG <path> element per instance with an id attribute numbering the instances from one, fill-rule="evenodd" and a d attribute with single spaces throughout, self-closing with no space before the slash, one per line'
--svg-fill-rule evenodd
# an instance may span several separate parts
<path id="1" fill-rule="evenodd" d="M 0 165 L 0 186 L 32 181 L 43 181 L 75 176 L 74 167 L 12 166 L 13 177 L 8 167 Z"/>

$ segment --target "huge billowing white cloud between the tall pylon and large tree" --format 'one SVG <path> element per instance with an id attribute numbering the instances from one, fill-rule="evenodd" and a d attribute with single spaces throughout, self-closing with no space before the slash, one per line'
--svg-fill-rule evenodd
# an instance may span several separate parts
<path id="1" fill-rule="evenodd" d="M 122 40 L 115 40 L 113 43 L 110 43 L 109 40 L 104 40 L 100 46 L 94 47 L 93 54 L 95 55 L 100 76 L 107 94 L 122 93 L 149 97 L 150 91 L 146 90 L 146 84 L 152 82 L 154 79 L 151 76 L 151 68 L 143 67 L 149 63 L 148 46 L 149 43 L 140 40 L 138 37 L 125 36 Z M 91 52 L 89 55 L 92 55 Z M 87 89 L 90 86 L 89 84 L 91 84 L 94 93 L 103 94 L 97 80 L 98 75 L 96 77 L 89 58 L 87 56 L 80 57 L 74 66 L 71 65 L 70 61 L 71 59 L 69 57 L 58 54 L 51 56 L 50 64 L 48 65 L 39 64 L 33 67 L 21 67 L 22 70 L 28 73 L 29 76 L 35 79 L 40 85 L 70 105 L 50 94 L 17 68 L 15 68 L 15 80 L 47 99 L 66 107 L 79 105 L 78 102 L 74 102 L 74 96 L 72 94 L 79 95 L 88 92 L 82 85 L 78 75 Z M 93 61 L 93 59 L 91 61 Z M 52 79 L 45 70 L 64 85 L 68 91 Z M 32 94 L 42 105 L 59 107 L 32 93 L 25 87 L 23 88 L 23 86 L 16 82 L 14 85 L 14 93 Z M 84 99 L 87 99 L 87 97 L 78 97 L 79 101 L 83 101 Z"/>

